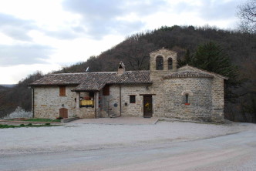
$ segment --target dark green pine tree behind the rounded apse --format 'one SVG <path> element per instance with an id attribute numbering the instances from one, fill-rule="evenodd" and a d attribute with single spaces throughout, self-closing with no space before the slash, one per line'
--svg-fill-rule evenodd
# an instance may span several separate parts
<path id="1" fill-rule="evenodd" d="M 234 102 L 237 94 L 234 88 L 241 86 L 242 80 L 239 79 L 239 70 L 231 60 L 221 45 L 214 42 L 208 42 L 204 45 L 198 45 L 194 55 L 186 54 L 184 62 L 193 65 L 199 69 L 224 75 L 229 79 L 225 82 L 225 100 Z"/>

